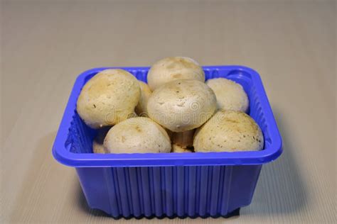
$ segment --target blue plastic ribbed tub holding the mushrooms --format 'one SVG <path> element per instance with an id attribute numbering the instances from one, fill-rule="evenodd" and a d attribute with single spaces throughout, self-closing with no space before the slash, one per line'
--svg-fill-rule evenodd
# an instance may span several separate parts
<path id="1" fill-rule="evenodd" d="M 206 79 L 240 83 L 250 99 L 250 116 L 260 125 L 264 150 L 93 154 L 96 130 L 76 112 L 82 86 L 97 72 L 77 77 L 53 145 L 58 162 L 75 167 L 90 208 L 114 218 L 228 216 L 252 201 L 262 164 L 282 153 L 282 139 L 259 74 L 242 66 L 205 66 Z M 149 67 L 122 67 L 146 82 Z"/>

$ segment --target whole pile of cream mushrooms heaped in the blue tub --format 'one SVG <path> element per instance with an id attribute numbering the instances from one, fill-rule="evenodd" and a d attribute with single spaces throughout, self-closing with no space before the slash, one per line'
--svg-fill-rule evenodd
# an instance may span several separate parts
<path id="1" fill-rule="evenodd" d="M 247 115 L 249 99 L 240 84 L 205 82 L 203 69 L 188 57 L 159 60 L 147 83 L 123 69 L 106 69 L 83 86 L 77 113 L 97 129 L 94 153 L 262 150 L 262 131 Z"/>

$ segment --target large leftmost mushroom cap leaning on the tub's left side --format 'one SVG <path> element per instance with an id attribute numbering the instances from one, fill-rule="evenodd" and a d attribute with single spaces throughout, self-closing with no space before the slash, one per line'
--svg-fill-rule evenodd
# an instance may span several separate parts
<path id="1" fill-rule="evenodd" d="M 140 98 L 137 79 L 123 69 L 106 69 L 83 86 L 77 113 L 91 128 L 124 121 L 134 113 Z"/>

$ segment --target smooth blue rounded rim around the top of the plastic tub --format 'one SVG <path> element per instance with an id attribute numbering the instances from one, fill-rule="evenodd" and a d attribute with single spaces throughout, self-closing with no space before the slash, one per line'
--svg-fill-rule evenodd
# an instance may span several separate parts
<path id="1" fill-rule="evenodd" d="M 194 152 L 194 153 L 132 153 L 132 154 L 94 154 L 70 152 L 65 147 L 68 138 L 70 123 L 76 108 L 77 96 L 82 89 L 82 83 L 90 74 L 95 74 L 103 69 L 120 68 L 127 70 L 148 70 L 149 67 L 98 67 L 89 69 L 80 74 L 73 86 L 65 113 L 58 128 L 53 144 L 53 157 L 70 167 L 165 167 L 165 166 L 206 166 L 206 165 L 250 165 L 272 162 L 282 154 L 282 138 L 277 128 L 277 123 L 272 113 L 272 108 L 264 91 L 260 75 L 249 67 L 241 65 L 203 66 L 203 69 L 226 68 L 248 72 L 252 83 L 255 85 L 257 97 L 266 120 L 267 132 L 271 144 L 261 151 L 247 152 Z"/>

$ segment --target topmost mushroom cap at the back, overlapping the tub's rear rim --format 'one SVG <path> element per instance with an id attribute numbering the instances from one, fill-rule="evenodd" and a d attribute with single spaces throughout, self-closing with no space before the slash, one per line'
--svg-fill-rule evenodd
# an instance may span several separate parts
<path id="1" fill-rule="evenodd" d="M 176 79 L 205 82 L 205 73 L 198 62 L 189 57 L 166 57 L 154 63 L 147 74 L 147 83 L 152 91 Z"/>

